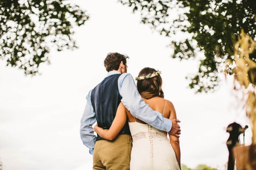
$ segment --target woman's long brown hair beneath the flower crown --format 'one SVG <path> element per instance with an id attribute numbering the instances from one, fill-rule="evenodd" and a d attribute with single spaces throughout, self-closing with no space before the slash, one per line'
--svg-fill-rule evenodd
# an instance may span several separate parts
<path id="1" fill-rule="evenodd" d="M 154 68 L 146 67 L 140 71 L 138 77 L 153 74 L 154 72 L 157 72 Z M 137 80 L 137 88 L 140 95 L 144 99 L 151 99 L 153 97 L 164 97 L 162 90 L 162 78 L 160 75 L 149 79 Z"/>

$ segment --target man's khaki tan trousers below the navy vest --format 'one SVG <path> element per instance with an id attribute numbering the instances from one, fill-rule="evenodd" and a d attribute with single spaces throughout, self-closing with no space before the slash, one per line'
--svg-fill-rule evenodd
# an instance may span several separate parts
<path id="1" fill-rule="evenodd" d="M 93 152 L 93 170 L 129 170 L 132 138 L 118 135 L 113 141 L 96 141 Z"/>

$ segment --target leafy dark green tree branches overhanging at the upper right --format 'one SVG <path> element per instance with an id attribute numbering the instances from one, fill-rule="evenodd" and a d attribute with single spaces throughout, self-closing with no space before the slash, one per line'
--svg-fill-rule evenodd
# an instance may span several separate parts
<path id="1" fill-rule="evenodd" d="M 142 23 L 170 37 L 173 58 L 198 58 L 204 53 L 198 73 L 190 77 L 190 88 L 197 92 L 214 91 L 218 72 L 226 61 L 234 61 L 234 42 L 241 29 L 256 40 L 256 3 L 253 0 L 119 0 L 141 11 Z M 177 14 L 177 17 L 173 17 Z M 185 40 L 173 34 L 187 34 Z M 256 53 L 250 55 L 256 62 Z M 233 74 L 232 68 L 227 69 Z M 254 73 L 255 74 L 255 73 Z"/>

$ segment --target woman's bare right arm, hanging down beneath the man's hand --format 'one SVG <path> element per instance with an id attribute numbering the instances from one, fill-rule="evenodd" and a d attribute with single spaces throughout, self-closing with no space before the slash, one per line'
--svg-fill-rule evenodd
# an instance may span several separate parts
<path id="1" fill-rule="evenodd" d="M 169 108 L 171 110 L 169 119 L 177 119 L 176 111 L 175 111 L 175 108 L 174 108 L 174 105 L 172 104 L 172 102 L 168 101 L 166 104 L 169 105 Z M 172 144 L 172 148 L 175 152 L 176 159 L 180 166 L 180 141 L 179 141 L 179 138 L 177 138 L 176 136 L 172 136 L 170 134 L 169 134 L 169 137 L 170 137 L 170 143 Z M 180 169 L 181 169 L 181 167 L 180 167 Z"/>

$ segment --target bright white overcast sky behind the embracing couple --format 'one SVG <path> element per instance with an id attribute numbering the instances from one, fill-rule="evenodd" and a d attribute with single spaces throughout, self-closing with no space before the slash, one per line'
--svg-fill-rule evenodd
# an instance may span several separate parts
<path id="1" fill-rule="evenodd" d="M 140 14 L 116 0 L 78 1 L 90 15 L 76 27 L 73 51 L 51 51 L 51 64 L 40 75 L 25 76 L 0 60 L 0 161 L 3 170 L 90 170 L 92 156 L 80 139 L 80 119 L 88 91 L 107 75 L 109 52 L 127 54 L 128 72 L 137 77 L 144 67 L 162 71 L 163 91 L 180 119 L 181 163 L 207 164 L 223 170 L 227 162 L 226 127 L 250 122 L 233 92 L 233 79 L 220 73 L 218 91 L 195 94 L 187 75 L 199 61 L 172 59 L 170 40 L 140 23 Z M 201 55 L 202 54 L 198 54 Z M 242 136 L 241 136 L 241 141 Z"/>

